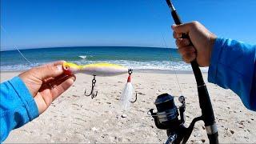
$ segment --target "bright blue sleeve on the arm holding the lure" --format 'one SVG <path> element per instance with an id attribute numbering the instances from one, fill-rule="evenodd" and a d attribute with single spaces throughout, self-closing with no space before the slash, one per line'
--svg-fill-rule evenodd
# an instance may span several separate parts
<path id="1" fill-rule="evenodd" d="M 32 121 L 39 113 L 34 98 L 19 77 L 2 82 L 0 95 L 0 139 L 3 142 L 10 130 Z"/>

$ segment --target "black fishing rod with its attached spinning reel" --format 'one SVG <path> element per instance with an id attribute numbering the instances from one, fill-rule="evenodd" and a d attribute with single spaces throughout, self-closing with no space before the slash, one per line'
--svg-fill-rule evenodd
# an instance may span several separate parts
<path id="1" fill-rule="evenodd" d="M 175 24 L 181 25 L 182 21 L 179 18 L 174 5 L 170 2 L 170 0 L 166 0 L 166 3 L 170 8 Z M 188 34 L 182 34 L 182 38 L 189 39 L 190 46 L 193 46 Z M 194 77 L 198 86 L 199 106 L 202 110 L 202 115 L 194 118 L 189 127 L 185 127 L 183 125 L 185 122 L 184 112 L 186 110 L 185 98 L 183 96 L 178 98 L 179 102 L 182 103 L 182 106 L 177 108 L 177 106 L 174 104 L 174 97 L 170 94 L 161 94 L 158 96 L 154 102 L 158 112 L 155 113 L 154 110 L 151 109 L 150 115 L 154 118 L 155 125 L 158 127 L 158 129 L 167 131 L 168 139 L 166 143 L 186 143 L 194 129 L 195 122 L 200 120 L 205 123 L 209 142 L 211 144 L 218 143 L 218 129 L 214 118 L 214 110 L 210 102 L 210 96 L 208 94 L 206 84 L 202 78 L 202 72 L 199 69 L 196 59 L 190 62 L 190 64 L 192 66 Z M 180 120 L 178 119 L 178 110 L 180 113 Z"/>

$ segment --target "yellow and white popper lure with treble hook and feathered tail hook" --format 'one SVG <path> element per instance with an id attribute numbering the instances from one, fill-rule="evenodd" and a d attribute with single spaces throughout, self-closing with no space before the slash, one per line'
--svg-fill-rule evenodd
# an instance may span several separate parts
<path id="1" fill-rule="evenodd" d="M 109 77 L 109 76 L 116 76 L 116 75 L 128 73 L 129 77 L 128 77 L 125 88 L 122 90 L 122 96 L 120 98 L 120 102 L 122 104 L 122 107 L 125 109 L 127 109 L 130 106 L 130 102 L 133 94 L 133 86 L 130 83 L 130 75 L 132 74 L 131 69 L 128 69 L 125 66 L 120 66 L 112 63 L 94 63 L 94 64 L 79 66 L 71 62 L 64 62 L 62 66 L 63 66 L 64 73 L 67 75 L 82 73 L 82 74 L 89 74 L 94 76 L 92 80 L 92 88 L 91 88 L 90 94 L 86 94 L 86 90 L 85 90 L 85 95 L 86 96 L 91 95 L 91 98 L 95 98 L 98 94 L 97 91 L 94 92 L 96 76 Z M 136 102 L 136 100 L 137 100 L 137 94 L 134 102 Z"/>

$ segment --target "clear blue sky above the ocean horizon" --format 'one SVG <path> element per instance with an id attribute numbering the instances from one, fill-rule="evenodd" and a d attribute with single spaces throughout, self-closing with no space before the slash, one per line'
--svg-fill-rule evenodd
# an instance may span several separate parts
<path id="1" fill-rule="evenodd" d="M 255 0 L 173 0 L 183 22 L 256 43 Z M 1 50 L 54 46 L 175 47 L 165 0 L 1 0 Z"/>

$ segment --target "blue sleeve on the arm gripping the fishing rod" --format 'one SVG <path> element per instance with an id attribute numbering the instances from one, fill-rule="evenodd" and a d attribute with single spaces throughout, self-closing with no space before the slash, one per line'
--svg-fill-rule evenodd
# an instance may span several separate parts
<path id="1" fill-rule="evenodd" d="M 256 46 L 217 38 L 211 54 L 208 81 L 233 90 L 247 109 L 256 110 Z"/>

